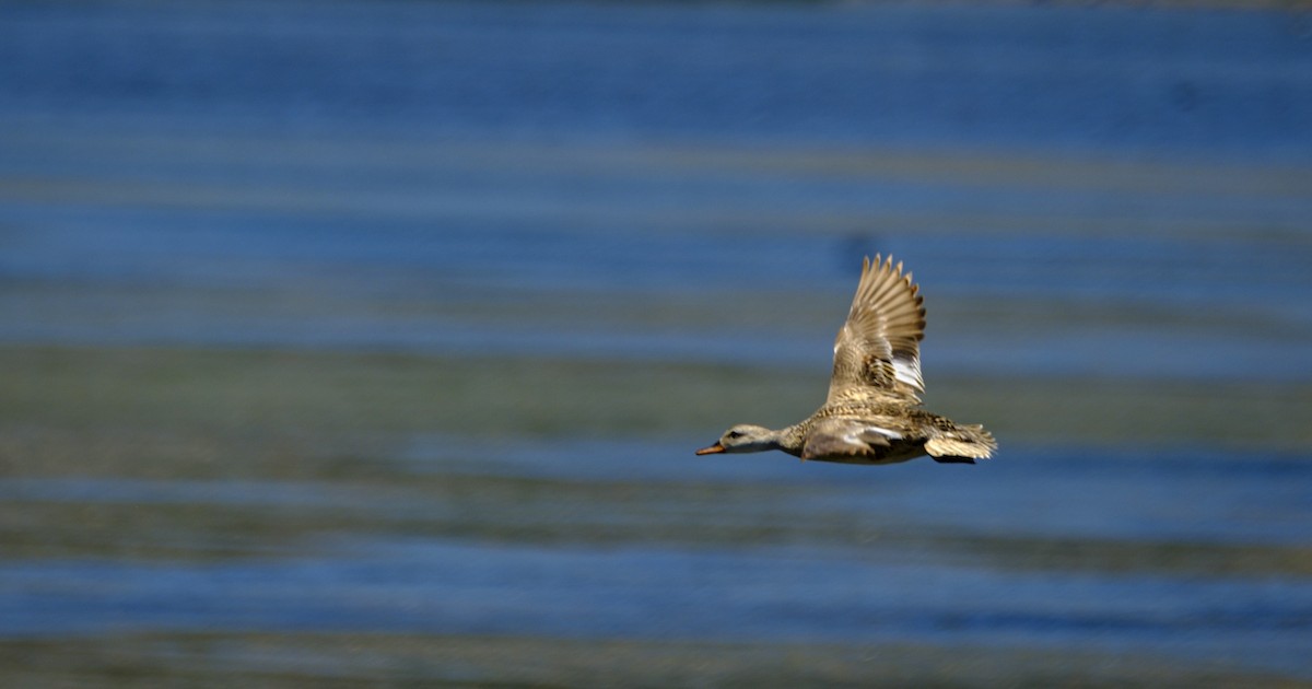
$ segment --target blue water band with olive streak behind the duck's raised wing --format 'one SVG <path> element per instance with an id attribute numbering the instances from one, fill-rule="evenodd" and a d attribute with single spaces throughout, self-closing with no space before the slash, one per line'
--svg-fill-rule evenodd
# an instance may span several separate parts
<path id="1" fill-rule="evenodd" d="M 963 231 L 861 240 L 853 251 L 848 238 L 804 231 L 744 241 L 657 231 L 380 228 L 318 217 L 289 226 L 269 217 L 115 209 L 0 214 L 42 227 L 10 234 L 13 249 L 0 257 L 10 285 L 0 293 L 5 340 L 558 353 L 824 370 L 853 276 L 841 257 L 854 264 L 850 257 L 869 247 L 914 257 L 916 276 L 933 285 L 930 312 L 946 304 L 955 316 L 930 322 L 924 346 L 938 371 L 1232 382 L 1312 375 L 1312 235 L 1302 232 L 1270 240 Z M 607 315 L 661 294 L 723 308 L 753 290 L 791 293 L 789 308 L 815 320 L 708 329 L 640 318 L 617 325 Z M 260 294 L 337 306 L 307 311 Z M 429 299 L 449 312 L 395 314 L 398 304 Z M 525 299 L 544 302 L 538 318 L 497 315 Z M 1005 316 L 954 308 L 975 301 L 1006 304 Z M 602 310 L 589 312 L 589 303 Z M 1064 315 L 1071 308 L 1090 315 Z M 1145 320 L 1157 325 L 1145 328 Z"/>

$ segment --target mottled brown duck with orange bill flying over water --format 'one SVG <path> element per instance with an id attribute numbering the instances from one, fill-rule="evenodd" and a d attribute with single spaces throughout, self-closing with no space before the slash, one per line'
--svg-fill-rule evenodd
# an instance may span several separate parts
<path id="1" fill-rule="evenodd" d="M 958 424 L 925 409 L 920 341 L 925 299 L 903 264 L 862 259 L 848 320 L 833 344 L 824 406 L 781 429 L 737 424 L 698 455 L 782 450 L 802 461 L 892 465 L 917 457 L 974 465 L 997 450 L 979 424 Z"/>

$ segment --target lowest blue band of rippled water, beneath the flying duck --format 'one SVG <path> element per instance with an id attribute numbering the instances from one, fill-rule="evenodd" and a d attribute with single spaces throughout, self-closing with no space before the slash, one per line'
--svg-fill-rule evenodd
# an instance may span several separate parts
<path id="1" fill-rule="evenodd" d="M 373 542 L 337 560 L 7 567 L 7 635 L 425 631 L 1077 646 L 1302 667 L 1303 581 L 1054 576 L 824 551 Z M 926 588 L 938 592 L 926 600 Z M 197 595 L 197 592 L 203 592 Z"/>

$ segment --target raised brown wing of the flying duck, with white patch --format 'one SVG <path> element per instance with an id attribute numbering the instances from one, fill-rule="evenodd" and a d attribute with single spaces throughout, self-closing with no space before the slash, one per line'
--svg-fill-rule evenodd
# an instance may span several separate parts
<path id="1" fill-rule="evenodd" d="M 925 306 L 911 273 L 892 256 L 866 259 L 848 322 L 833 343 L 833 378 L 827 403 L 878 394 L 920 400 L 920 340 L 925 336 Z"/>

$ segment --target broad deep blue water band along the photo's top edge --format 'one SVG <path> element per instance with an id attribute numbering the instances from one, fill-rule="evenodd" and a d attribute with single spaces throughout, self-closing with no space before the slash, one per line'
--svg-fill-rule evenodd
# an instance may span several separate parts
<path id="1" fill-rule="evenodd" d="M 10 5 L 22 117 L 1312 151 L 1305 17 L 1085 7 Z"/>

